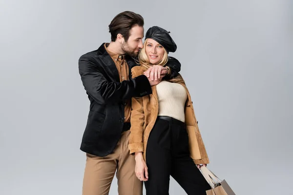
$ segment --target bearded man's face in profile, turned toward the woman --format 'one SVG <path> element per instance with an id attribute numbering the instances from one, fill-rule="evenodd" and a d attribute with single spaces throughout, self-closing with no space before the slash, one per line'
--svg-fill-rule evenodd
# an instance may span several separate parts
<path id="1" fill-rule="evenodd" d="M 143 48 L 144 27 L 134 26 L 130 29 L 128 40 L 122 43 L 122 50 L 133 57 L 136 57 Z"/>

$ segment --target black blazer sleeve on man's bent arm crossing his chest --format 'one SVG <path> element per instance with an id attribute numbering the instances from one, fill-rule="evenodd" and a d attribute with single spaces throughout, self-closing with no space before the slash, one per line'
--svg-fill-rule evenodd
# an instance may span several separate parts
<path id="1" fill-rule="evenodd" d="M 79 59 L 79 73 L 84 89 L 95 101 L 111 103 L 152 93 L 146 76 L 141 75 L 122 82 L 107 81 L 98 69 L 97 63 L 98 61 L 88 54 Z"/>

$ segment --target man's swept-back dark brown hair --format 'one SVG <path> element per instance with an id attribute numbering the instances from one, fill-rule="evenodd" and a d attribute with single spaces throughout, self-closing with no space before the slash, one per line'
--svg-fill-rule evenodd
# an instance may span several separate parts
<path id="1" fill-rule="evenodd" d="M 118 34 L 121 34 L 127 41 L 130 36 L 130 29 L 136 25 L 144 26 L 144 18 L 141 15 L 130 11 L 118 14 L 109 24 L 111 41 L 115 41 Z"/>

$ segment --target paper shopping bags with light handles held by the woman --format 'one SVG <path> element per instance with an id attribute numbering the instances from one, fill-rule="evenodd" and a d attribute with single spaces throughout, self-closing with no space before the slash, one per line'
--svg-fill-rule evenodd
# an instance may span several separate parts
<path id="1" fill-rule="evenodd" d="M 211 187 L 207 195 L 235 195 L 225 179 L 219 179 L 207 167 L 202 166 L 200 170 Z"/>

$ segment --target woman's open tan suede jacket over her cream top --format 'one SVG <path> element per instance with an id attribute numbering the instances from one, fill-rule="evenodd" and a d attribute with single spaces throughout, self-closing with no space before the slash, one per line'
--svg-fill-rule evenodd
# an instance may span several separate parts
<path id="1" fill-rule="evenodd" d="M 143 75 L 146 68 L 135 66 L 131 69 L 132 78 Z M 185 124 L 188 132 L 190 157 L 195 164 L 208 164 L 209 157 L 204 142 L 197 126 L 190 94 L 185 84 L 182 84 L 188 94 L 185 106 Z M 143 152 L 146 160 L 146 144 L 150 131 L 152 130 L 159 111 L 156 86 L 152 87 L 152 94 L 143 98 L 132 98 L 131 128 L 129 137 L 129 150 L 133 155 L 135 152 Z"/>

